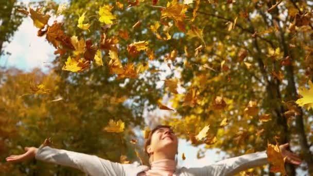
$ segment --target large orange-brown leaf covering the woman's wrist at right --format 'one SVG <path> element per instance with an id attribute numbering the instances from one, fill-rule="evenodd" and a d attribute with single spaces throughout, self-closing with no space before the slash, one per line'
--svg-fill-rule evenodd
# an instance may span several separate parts
<path id="1" fill-rule="evenodd" d="M 270 172 L 281 172 L 282 175 L 286 175 L 286 170 L 285 170 L 285 161 L 287 156 L 283 157 L 282 151 L 279 147 L 279 143 L 276 140 L 276 145 L 269 144 L 267 142 L 267 161 L 272 164 L 273 166 L 270 167 Z"/>

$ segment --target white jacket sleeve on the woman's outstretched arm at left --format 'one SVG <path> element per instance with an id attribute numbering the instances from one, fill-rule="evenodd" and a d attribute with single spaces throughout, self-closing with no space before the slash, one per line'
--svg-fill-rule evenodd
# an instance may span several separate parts
<path id="1" fill-rule="evenodd" d="M 49 146 L 40 146 L 35 155 L 36 160 L 68 166 L 79 169 L 86 175 L 125 175 L 125 166 L 109 160 L 101 159 L 96 155 L 89 155 Z"/>

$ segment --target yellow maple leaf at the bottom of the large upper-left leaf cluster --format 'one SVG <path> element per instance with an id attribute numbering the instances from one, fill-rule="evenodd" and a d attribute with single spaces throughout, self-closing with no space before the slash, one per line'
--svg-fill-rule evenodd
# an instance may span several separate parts
<path id="1" fill-rule="evenodd" d="M 65 65 L 62 67 L 62 71 L 70 72 L 79 72 L 83 71 L 89 66 L 89 61 L 85 59 L 80 59 L 78 62 L 75 59 L 72 59 L 71 56 L 68 56 Z"/>

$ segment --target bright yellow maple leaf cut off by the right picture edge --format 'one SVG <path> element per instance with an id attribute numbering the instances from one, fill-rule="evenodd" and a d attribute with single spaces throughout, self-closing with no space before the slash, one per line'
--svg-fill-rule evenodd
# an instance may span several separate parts
<path id="1" fill-rule="evenodd" d="M 306 89 L 305 87 L 301 87 L 299 89 L 299 94 L 302 96 L 302 98 L 299 98 L 297 101 L 295 101 L 300 106 L 306 107 L 307 110 L 310 108 L 313 109 L 313 83 L 309 80 L 308 85 L 309 89 Z"/>

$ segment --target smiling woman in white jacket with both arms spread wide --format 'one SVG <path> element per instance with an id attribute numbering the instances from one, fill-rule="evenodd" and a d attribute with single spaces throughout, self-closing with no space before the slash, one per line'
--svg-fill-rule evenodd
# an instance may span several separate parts
<path id="1" fill-rule="evenodd" d="M 46 143 L 47 140 L 45 140 Z M 245 154 L 231 159 L 222 160 L 215 164 L 198 168 L 177 168 L 175 155 L 178 153 L 178 138 L 172 132 L 170 126 L 157 126 L 149 134 L 144 150 L 149 155 L 151 167 L 135 164 L 120 164 L 101 159 L 95 155 L 88 155 L 73 151 L 50 148 L 41 145 L 25 147 L 26 153 L 11 155 L 6 158 L 8 162 L 22 162 L 35 157 L 37 160 L 69 166 L 79 169 L 86 175 L 233 175 L 240 171 L 268 164 L 266 151 Z M 300 158 L 286 150 L 288 143 L 281 145 L 283 156 L 287 156 L 287 162 L 299 165 Z"/>

